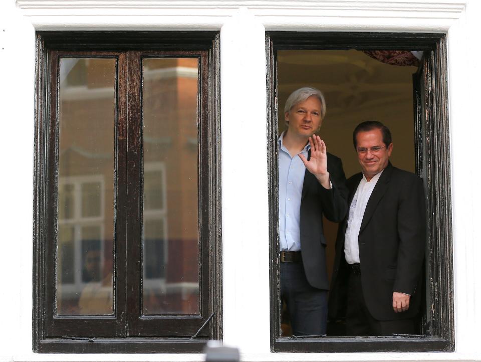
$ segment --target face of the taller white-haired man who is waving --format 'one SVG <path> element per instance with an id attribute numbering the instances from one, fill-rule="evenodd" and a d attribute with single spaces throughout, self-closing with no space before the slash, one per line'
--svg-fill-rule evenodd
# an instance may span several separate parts
<path id="1" fill-rule="evenodd" d="M 309 138 L 321 126 L 321 101 L 316 96 L 310 96 L 304 102 L 299 102 L 286 112 L 289 121 L 288 133 Z"/>

